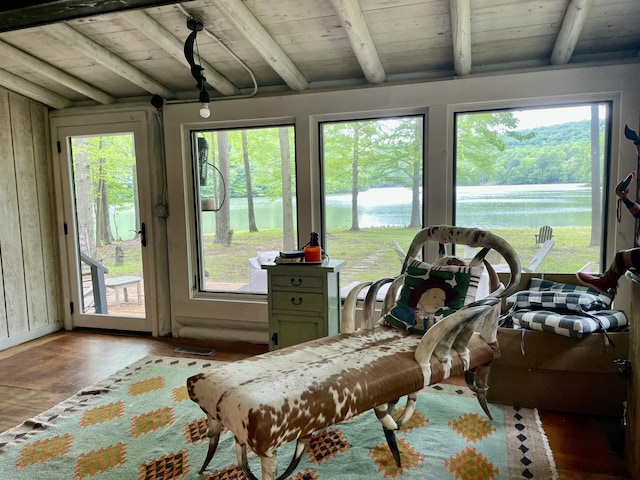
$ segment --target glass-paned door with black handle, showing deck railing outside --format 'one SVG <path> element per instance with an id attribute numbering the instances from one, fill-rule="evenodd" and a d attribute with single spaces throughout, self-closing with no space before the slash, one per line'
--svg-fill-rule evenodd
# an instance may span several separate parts
<path id="1" fill-rule="evenodd" d="M 73 326 L 151 331 L 135 133 L 68 135 L 61 148 Z"/>

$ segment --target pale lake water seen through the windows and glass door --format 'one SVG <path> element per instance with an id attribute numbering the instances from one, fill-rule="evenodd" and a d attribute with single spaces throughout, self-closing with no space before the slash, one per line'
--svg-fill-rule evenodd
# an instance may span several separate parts
<path id="1" fill-rule="evenodd" d="M 537 228 L 540 225 L 591 225 L 591 187 L 585 184 L 459 187 L 455 223 L 481 228 Z M 411 216 L 411 190 L 372 188 L 358 196 L 359 223 L 367 227 L 403 227 Z M 282 226 L 281 202 L 254 199 L 258 229 Z M 351 226 L 351 195 L 328 195 L 329 228 Z M 231 199 L 231 228 L 248 230 L 246 198 Z M 215 215 L 205 212 L 206 233 L 215 231 Z M 129 225 L 130 224 L 130 225 Z M 118 214 L 120 235 L 135 230 L 133 212 Z"/>

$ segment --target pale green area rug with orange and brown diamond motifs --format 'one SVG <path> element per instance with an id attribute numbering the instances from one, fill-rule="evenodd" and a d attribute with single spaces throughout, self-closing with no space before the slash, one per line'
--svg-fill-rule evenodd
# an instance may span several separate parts
<path id="1" fill-rule="evenodd" d="M 244 479 L 225 432 L 204 474 L 203 412 L 185 380 L 217 362 L 147 357 L 53 409 L 0 434 L 0 477 L 11 480 Z M 402 404 L 402 401 L 399 405 Z M 493 421 L 466 388 L 441 385 L 418 398 L 397 433 L 397 468 L 373 412 L 317 432 L 292 480 L 556 479 L 535 410 L 490 405 Z M 293 445 L 278 452 L 278 471 Z M 250 454 L 260 476 L 259 459 Z"/>

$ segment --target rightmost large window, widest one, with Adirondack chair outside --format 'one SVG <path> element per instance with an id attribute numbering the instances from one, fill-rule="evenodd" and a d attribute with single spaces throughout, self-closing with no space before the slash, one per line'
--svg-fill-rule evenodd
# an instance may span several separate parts
<path id="1" fill-rule="evenodd" d="M 599 271 L 610 104 L 455 116 L 455 224 L 507 239 L 527 270 Z"/>

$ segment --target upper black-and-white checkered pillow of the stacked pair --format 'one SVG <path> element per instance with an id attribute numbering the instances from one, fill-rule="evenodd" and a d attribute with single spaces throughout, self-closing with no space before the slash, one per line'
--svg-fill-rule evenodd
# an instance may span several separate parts
<path id="1" fill-rule="evenodd" d="M 529 290 L 517 292 L 507 298 L 512 309 L 545 309 L 571 312 L 606 310 L 613 297 L 594 288 L 532 278 Z"/>

